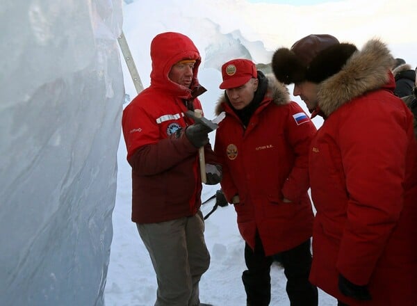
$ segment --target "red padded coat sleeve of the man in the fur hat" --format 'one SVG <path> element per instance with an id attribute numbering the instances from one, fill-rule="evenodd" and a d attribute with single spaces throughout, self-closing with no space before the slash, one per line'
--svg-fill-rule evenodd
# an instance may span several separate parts
<path id="1" fill-rule="evenodd" d="M 354 284 L 368 284 L 400 218 L 405 121 L 400 111 L 380 107 L 350 111 L 338 124 L 348 202 L 336 267 Z"/>

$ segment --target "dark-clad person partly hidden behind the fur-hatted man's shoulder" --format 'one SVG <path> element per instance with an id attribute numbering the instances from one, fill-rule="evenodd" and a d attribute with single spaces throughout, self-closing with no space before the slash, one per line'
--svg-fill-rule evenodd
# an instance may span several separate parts
<path id="1" fill-rule="evenodd" d="M 395 58 L 393 74 L 395 77 L 394 94 L 400 98 L 412 95 L 414 83 L 416 83 L 416 72 L 411 69 L 411 65 L 405 63 L 402 58 Z"/>

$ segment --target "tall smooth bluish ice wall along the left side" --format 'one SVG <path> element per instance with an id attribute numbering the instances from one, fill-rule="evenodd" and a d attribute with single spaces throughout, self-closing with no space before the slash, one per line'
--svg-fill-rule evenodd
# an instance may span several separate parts
<path id="1" fill-rule="evenodd" d="M 104 305 L 122 1 L 2 1 L 0 24 L 0 305 Z"/>

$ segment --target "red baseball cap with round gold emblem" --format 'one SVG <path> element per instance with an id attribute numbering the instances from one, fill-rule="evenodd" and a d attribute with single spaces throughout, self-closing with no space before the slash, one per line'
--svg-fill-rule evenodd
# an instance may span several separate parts
<path id="1" fill-rule="evenodd" d="M 255 64 L 246 58 L 236 58 L 222 65 L 220 89 L 236 88 L 258 77 Z"/>

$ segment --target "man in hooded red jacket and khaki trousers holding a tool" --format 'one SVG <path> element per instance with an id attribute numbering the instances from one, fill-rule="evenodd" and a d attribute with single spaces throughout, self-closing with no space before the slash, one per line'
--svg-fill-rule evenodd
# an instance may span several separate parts
<path id="1" fill-rule="evenodd" d="M 172 32 L 156 35 L 151 58 L 151 86 L 126 106 L 122 118 L 132 167 L 132 221 L 156 272 L 155 305 L 206 305 L 199 303 L 198 286 L 210 263 L 199 210 L 199 147 L 211 163 L 207 184 L 220 182 L 221 167 L 208 143 L 211 130 L 184 116 L 202 108 L 201 58 L 190 38 Z"/>

